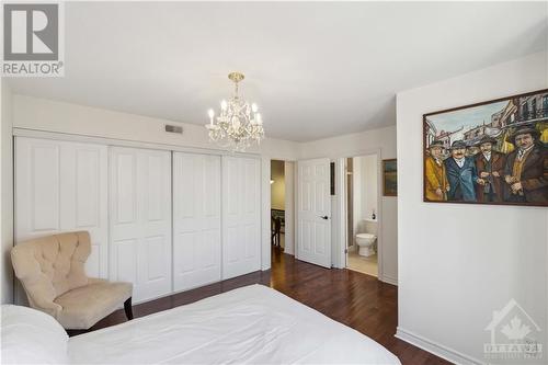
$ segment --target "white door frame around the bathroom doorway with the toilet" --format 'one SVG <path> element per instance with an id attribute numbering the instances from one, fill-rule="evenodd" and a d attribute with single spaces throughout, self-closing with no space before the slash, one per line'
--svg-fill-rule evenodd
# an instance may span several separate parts
<path id="1" fill-rule="evenodd" d="M 347 264 L 347 252 L 346 250 L 346 169 L 345 169 L 345 160 L 347 158 L 362 157 L 362 156 L 377 156 L 377 278 L 384 282 L 384 267 L 383 267 L 383 223 L 384 223 L 384 214 L 383 214 L 383 155 L 380 148 L 370 148 L 363 149 L 351 155 L 340 156 L 336 158 L 335 169 L 339 171 L 339 176 L 335 174 L 336 185 L 339 189 L 335 190 L 335 193 L 339 195 L 339 204 L 336 205 L 339 210 L 339 255 L 340 262 L 339 267 L 345 269 Z M 335 185 L 335 187 L 336 187 Z"/>

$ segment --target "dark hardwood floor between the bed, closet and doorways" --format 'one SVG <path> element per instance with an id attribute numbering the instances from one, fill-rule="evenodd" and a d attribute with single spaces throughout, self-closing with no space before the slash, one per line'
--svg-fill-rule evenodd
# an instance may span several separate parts
<path id="1" fill-rule="evenodd" d="M 350 270 L 323 269 L 279 249 L 272 252 L 272 269 L 134 306 L 135 318 L 193 303 L 250 284 L 264 284 L 368 335 L 395 353 L 402 364 L 450 364 L 393 337 L 398 323 L 398 288 Z M 125 322 L 118 310 L 91 330 Z M 75 334 L 75 333 L 71 333 Z"/>

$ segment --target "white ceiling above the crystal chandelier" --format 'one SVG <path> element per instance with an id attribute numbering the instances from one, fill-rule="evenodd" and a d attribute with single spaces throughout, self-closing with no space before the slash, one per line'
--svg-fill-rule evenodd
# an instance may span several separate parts
<path id="1" fill-rule="evenodd" d="M 396 123 L 395 94 L 547 49 L 548 2 L 67 3 L 66 77 L 18 93 L 205 124 L 231 93 L 269 137 Z"/>

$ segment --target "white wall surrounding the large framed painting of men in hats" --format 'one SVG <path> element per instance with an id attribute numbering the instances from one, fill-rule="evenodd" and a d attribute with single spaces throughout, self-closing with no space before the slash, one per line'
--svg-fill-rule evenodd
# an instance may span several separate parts
<path id="1" fill-rule="evenodd" d="M 546 88 L 545 53 L 398 94 L 399 337 L 487 362 L 484 328 L 511 298 L 548 330 L 548 209 L 422 201 L 424 113 Z"/>

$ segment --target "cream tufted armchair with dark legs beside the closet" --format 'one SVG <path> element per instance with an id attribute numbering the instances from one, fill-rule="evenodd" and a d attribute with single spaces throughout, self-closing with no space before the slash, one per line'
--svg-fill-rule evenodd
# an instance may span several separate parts
<path id="1" fill-rule="evenodd" d="M 130 283 L 112 283 L 85 275 L 91 253 L 87 231 L 34 239 L 11 250 L 15 276 L 31 307 L 55 317 L 65 329 L 89 329 L 122 304 L 133 319 Z"/>

